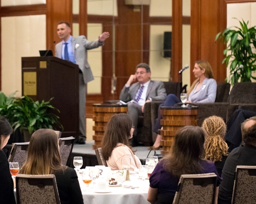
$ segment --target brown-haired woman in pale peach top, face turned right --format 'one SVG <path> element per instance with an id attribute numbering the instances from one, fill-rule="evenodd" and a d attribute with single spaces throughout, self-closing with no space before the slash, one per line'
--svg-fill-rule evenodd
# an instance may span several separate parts
<path id="1" fill-rule="evenodd" d="M 101 142 L 101 152 L 112 170 L 122 170 L 122 158 L 131 159 L 130 170 L 139 168 L 141 162 L 129 147 L 129 139 L 133 138 L 134 126 L 130 115 L 113 115 Z"/>

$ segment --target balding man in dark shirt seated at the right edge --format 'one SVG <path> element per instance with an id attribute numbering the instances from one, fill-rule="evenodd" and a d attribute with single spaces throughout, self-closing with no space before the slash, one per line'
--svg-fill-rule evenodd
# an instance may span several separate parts
<path id="1" fill-rule="evenodd" d="M 234 185 L 234 173 L 238 165 L 256 166 L 256 116 L 241 124 L 244 145 L 234 148 L 222 170 L 223 181 L 220 185 L 218 203 L 231 203 Z"/>

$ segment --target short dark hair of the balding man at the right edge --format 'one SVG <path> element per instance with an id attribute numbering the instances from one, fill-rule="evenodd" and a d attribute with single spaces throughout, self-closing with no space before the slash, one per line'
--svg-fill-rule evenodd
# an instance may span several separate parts
<path id="1" fill-rule="evenodd" d="M 249 121 L 253 120 L 254 124 L 250 127 L 245 127 L 245 124 Z M 250 117 L 246 119 L 241 124 L 242 138 L 245 144 L 256 143 L 256 116 Z"/>

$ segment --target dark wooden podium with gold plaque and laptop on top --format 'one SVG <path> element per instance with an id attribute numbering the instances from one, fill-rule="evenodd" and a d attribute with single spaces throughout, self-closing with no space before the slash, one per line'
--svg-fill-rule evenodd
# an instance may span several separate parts
<path id="1" fill-rule="evenodd" d="M 61 137 L 79 135 L 79 67 L 56 57 L 22 58 L 22 95 L 49 100 L 63 125 Z M 85 116 L 84 116 L 85 117 Z"/>

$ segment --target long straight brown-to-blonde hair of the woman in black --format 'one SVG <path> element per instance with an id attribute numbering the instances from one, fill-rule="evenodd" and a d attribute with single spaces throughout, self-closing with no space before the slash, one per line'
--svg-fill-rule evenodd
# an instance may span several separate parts
<path id="1" fill-rule="evenodd" d="M 58 136 L 50 129 L 35 131 L 30 139 L 28 158 L 20 173 L 23 174 L 54 174 L 57 170 L 64 170 L 59 155 Z"/>

